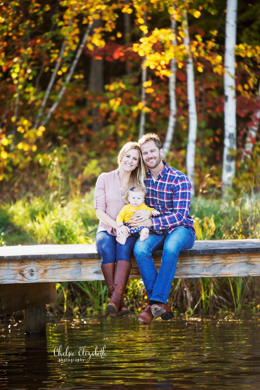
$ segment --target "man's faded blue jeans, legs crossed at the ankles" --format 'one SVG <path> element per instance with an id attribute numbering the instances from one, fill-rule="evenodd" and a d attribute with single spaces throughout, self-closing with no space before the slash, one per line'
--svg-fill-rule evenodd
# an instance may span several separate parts
<path id="1" fill-rule="evenodd" d="M 182 249 L 189 249 L 195 240 L 194 233 L 186 227 L 177 227 L 172 233 L 150 232 L 145 241 L 138 239 L 134 246 L 134 256 L 140 270 L 149 300 L 167 303 L 172 287 L 176 264 Z M 159 273 L 154 265 L 152 252 L 163 249 Z"/>

